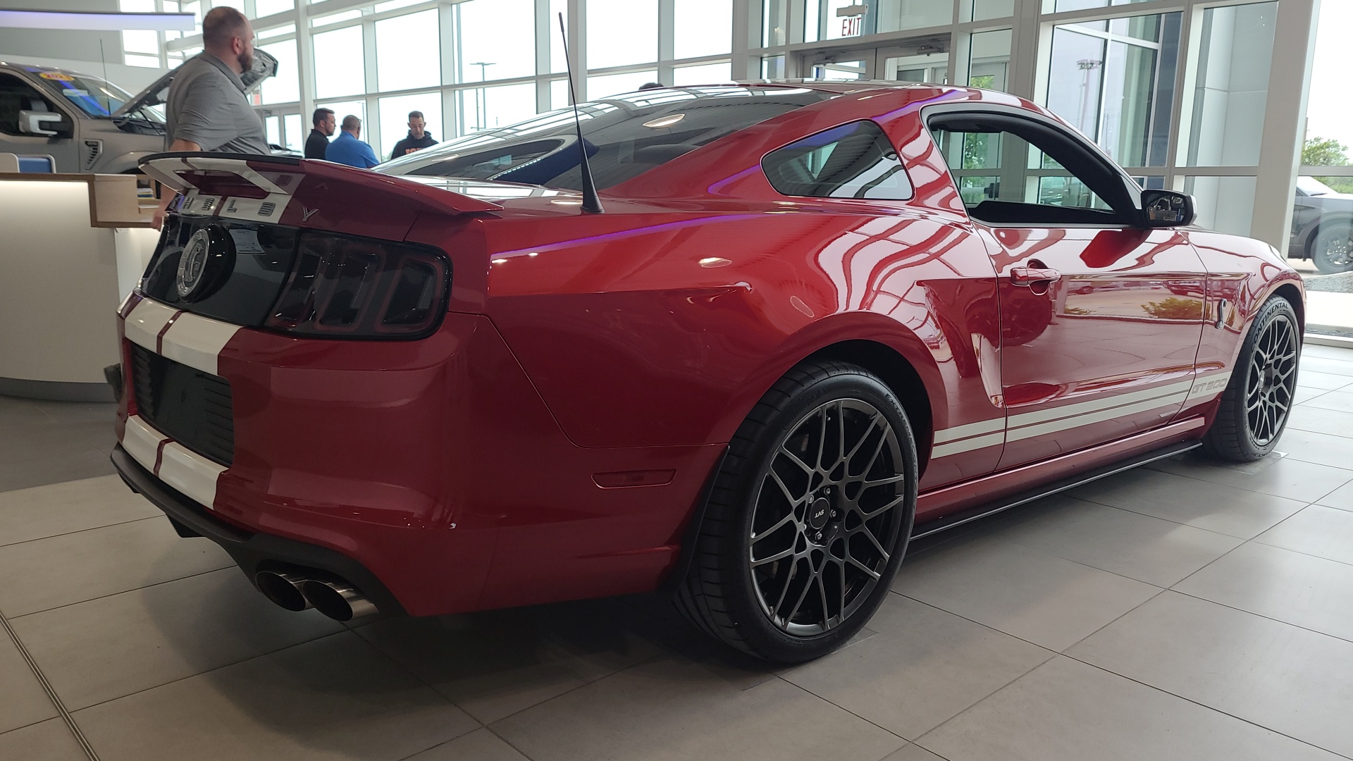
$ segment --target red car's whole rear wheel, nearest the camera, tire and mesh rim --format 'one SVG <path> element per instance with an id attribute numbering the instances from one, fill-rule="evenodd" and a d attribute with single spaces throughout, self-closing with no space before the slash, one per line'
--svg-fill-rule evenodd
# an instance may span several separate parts
<path id="1" fill-rule="evenodd" d="M 874 615 L 916 513 L 916 444 L 871 372 L 805 362 L 729 443 L 678 609 L 781 664 L 824 655 Z"/>

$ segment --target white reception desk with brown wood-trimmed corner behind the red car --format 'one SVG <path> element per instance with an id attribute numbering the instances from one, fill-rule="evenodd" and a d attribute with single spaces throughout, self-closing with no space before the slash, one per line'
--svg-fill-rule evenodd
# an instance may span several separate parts
<path id="1" fill-rule="evenodd" d="M 0 394 L 112 401 L 115 313 L 160 238 L 138 180 L 0 173 Z"/>

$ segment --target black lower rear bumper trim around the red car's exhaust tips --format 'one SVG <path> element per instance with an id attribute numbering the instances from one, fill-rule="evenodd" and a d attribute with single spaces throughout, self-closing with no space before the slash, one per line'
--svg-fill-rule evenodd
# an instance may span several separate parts
<path id="1" fill-rule="evenodd" d="M 168 486 L 118 444 L 112 448 L 112 464 L 118 475 L 133 492 L 141 494 L 184 529 L 206 536 L 230 554 L 239 569 L 253 582 L 261 570 L 319 570 L 344 578 L 360 589 L 384 613 L 403 612 L 399 600 L 360 562 L 318 544 L 308 544 L 264 532 L 252 532 L 231 525 L 212 515 L 192 498 Z"/>

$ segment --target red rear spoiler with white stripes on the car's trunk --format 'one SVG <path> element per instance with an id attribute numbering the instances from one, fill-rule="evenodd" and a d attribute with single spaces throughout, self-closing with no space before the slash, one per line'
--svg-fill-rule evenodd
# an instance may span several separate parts
<path id="1" fill-rule="evenodd" d="M 177 211 L 253 222 L 369 230 L 419 211 L 474 214 L 502 206 L 330 161 L 239 153 L 156 153 L 141 171 L 183 194 Z"/>

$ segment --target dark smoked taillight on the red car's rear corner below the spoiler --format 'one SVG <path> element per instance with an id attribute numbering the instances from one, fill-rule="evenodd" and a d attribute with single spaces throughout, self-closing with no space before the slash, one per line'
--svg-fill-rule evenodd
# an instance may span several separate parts
<path id="1" fill-rule="evenodd" d="M 441 252 L 334 234 L 304 234 L 268 328 L 333 339 L 417 339 L 445 311 Z"/>

